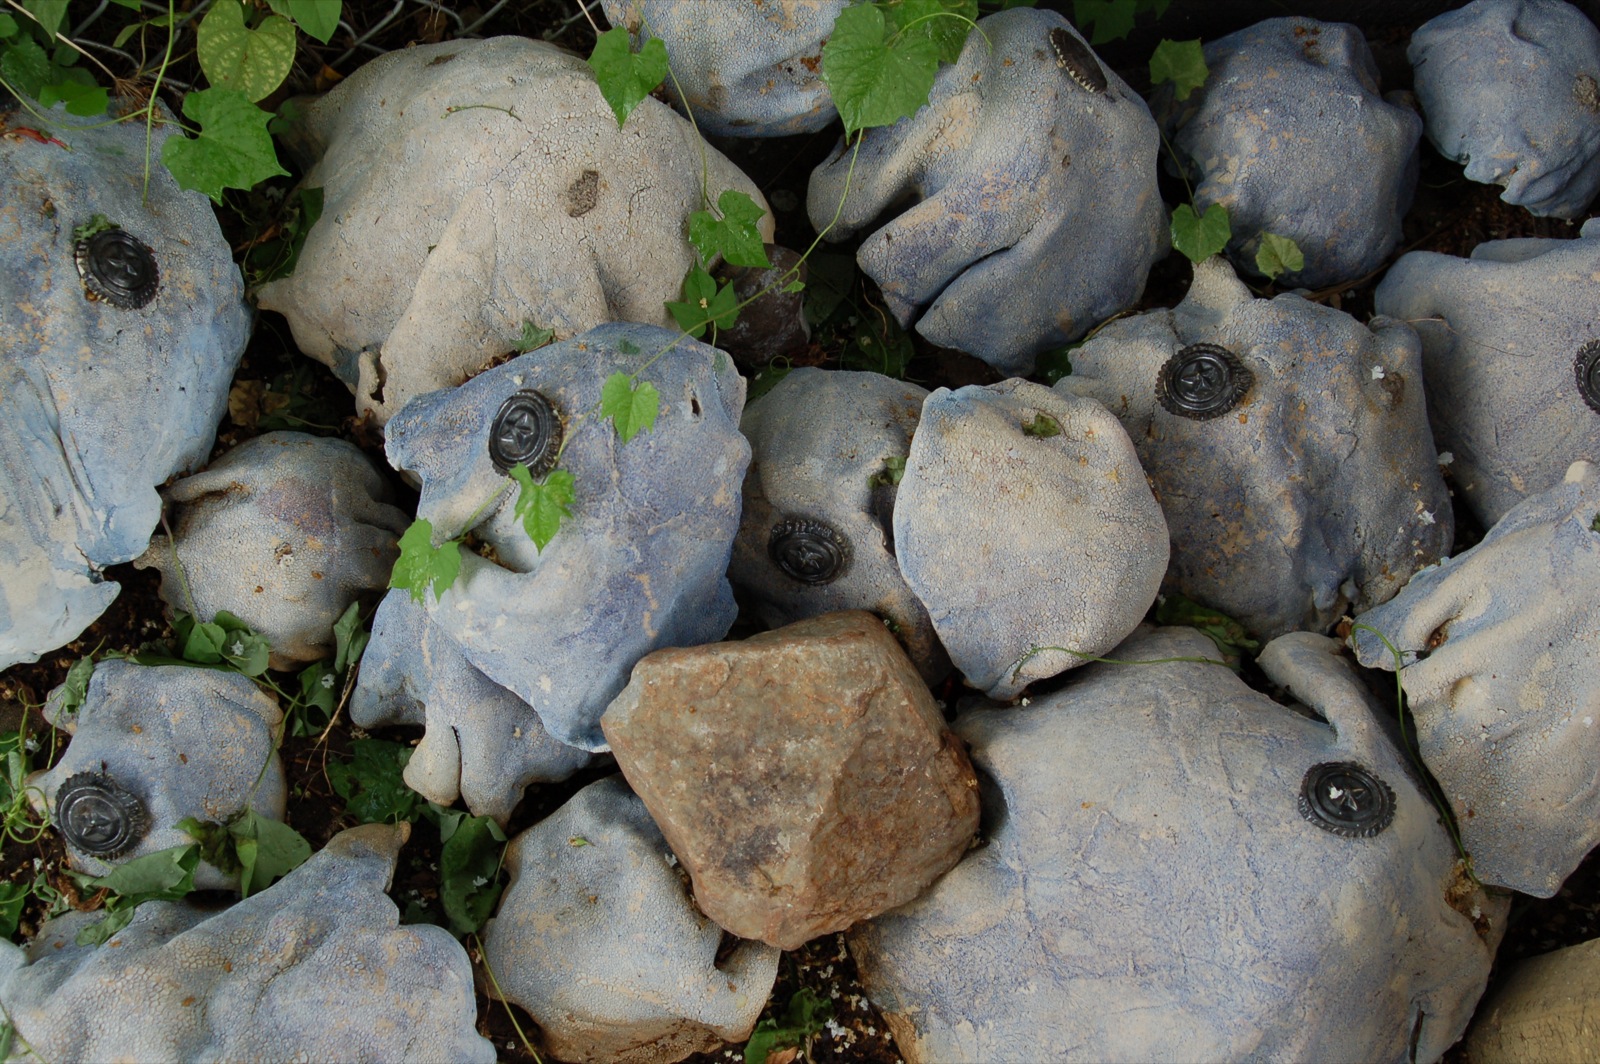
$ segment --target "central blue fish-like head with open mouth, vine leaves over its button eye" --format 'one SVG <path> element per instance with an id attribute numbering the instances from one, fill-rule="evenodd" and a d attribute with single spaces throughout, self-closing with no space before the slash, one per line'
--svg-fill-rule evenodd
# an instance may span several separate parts
<path id="1" fill-rule="evenodd" d="M 598 414 L 600 389 L 634 371 L 661 410 L 622 443 Z M 544 395 L 565 424 L 560 469 L 576 485 L 542 554 L 514 512 L 515 482 L 490 456 L 518 392 Z M 715 642 L 733 624 L 728 555 L 750 459 L 742 408 L 744 379 L 715 347 L 653 325 L 602 325 L 424 395 L 389 422 L 389 461 L 421 480 L 418 517 L 435 541 L 474 531 L 493 554 L 462 550 L 456 584 L 442 600 L 429 594 L 429 618 L 560 742 L 603 750 L 600 714 L 635 661 Z M 390 653 L 405 672 L 430 667 L 421 646 Z"/>

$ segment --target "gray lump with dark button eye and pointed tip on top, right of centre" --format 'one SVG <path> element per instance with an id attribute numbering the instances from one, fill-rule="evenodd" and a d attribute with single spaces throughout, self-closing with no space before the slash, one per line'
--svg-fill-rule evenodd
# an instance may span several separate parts
<path id="1" fill-rule="evenodd" d="M 1221 354 L 1194 362 L 1197 346 Z M 1168 365 L 1194 382 L 1163 386 Z M 1202 413 L 1214 416 L 1173 413 L 1205 398 L 1203 373 L 1221 398 Z M 1168 586 L 1269 640 L 1325 632 L 1450 550 L 1421 386 L 1405 323 L 1254 299 L 1213 258 L 1174 310 L 1114 322 L 1074 350 L 1056 390 L 1106 403 L 1133 437 L 1171 528 Z"/>

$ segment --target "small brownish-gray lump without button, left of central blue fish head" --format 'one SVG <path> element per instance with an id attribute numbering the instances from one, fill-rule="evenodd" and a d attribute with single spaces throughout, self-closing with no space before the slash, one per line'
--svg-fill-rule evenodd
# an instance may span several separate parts
<path id="1" fill-rule="evenodd" d="M 152 536 L 134 565 L 162 573 L 168 606 L 261 632 L 274 669 L 333 653 L 334 621 L 389 586 L 411 523 L 358 448 L 304 432 L 246 440 L 162 494 L 178 546 Z"/>

